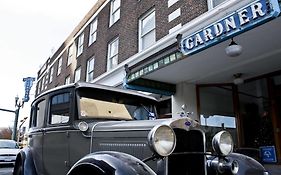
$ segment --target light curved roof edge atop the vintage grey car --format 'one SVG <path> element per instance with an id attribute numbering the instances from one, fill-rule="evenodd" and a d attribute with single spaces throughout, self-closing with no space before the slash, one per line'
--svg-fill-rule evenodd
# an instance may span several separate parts
<path id="1" fill-rule="evenodd" d="M 93 88 L 93 89 L 100 89 L 100 90 L 108 90 L 108 91 L 113 91 L 113 92 L 120 92 L 123 94 L 130 94 L 130 95 L 135 95 L 135 96 L 139 96 L 139 97 L 143 97 L 143 98 L 148 98 L 154 101 L 157 101 L 156 98 L 149 96 L 149 95 L 145 95 L 143 93 L 137 92 L 137 91 L 133 91 L 133 90 L 129 90 L 129 89 L 122 89 L 122 88 L 117 88 L 117 87 L 112 87 L 112 86 L 107 86 L 107 85 L 100 85 L 100 84 L 94 84 L 94 83 L 87 83 L 87 82 L 77 82 L 77 83 L 71 83 L 71 84 L 67 84 L 67 85 L 62 85 L 62 86 L 58 86 L 55 87 L 53 89 L 50 89 L 46 92 L 43 92 L 42 94 L 40 94 L 39 96 L 37 96 L 35 98 L 34 101 L 36 101 L 36 99 L 58 91 L 58 90 L 63 90 L 63 89 L 67 89 L 67 88 L 75 88 L 75 89 L 79 89 L 79 88 Z"/>

